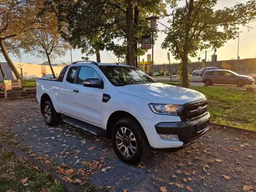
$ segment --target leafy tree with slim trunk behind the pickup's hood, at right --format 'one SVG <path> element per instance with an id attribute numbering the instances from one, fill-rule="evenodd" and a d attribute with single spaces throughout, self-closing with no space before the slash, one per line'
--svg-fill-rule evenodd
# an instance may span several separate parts
<path id="1" fill-rule="evenodd" d="M 247 26 L 256 18 L 254 0 L 222 10 L 214 9 L 217 0 L 186 0 L 179 7 L 177 0 L 167 2 L 171 2 L 173 12 L 162 48 L 181 60 L 183 87 L 188 87 L 188 55 L 194 58 L 198 50 L 223 46 L 238 36 L 239 25 Z"/>

